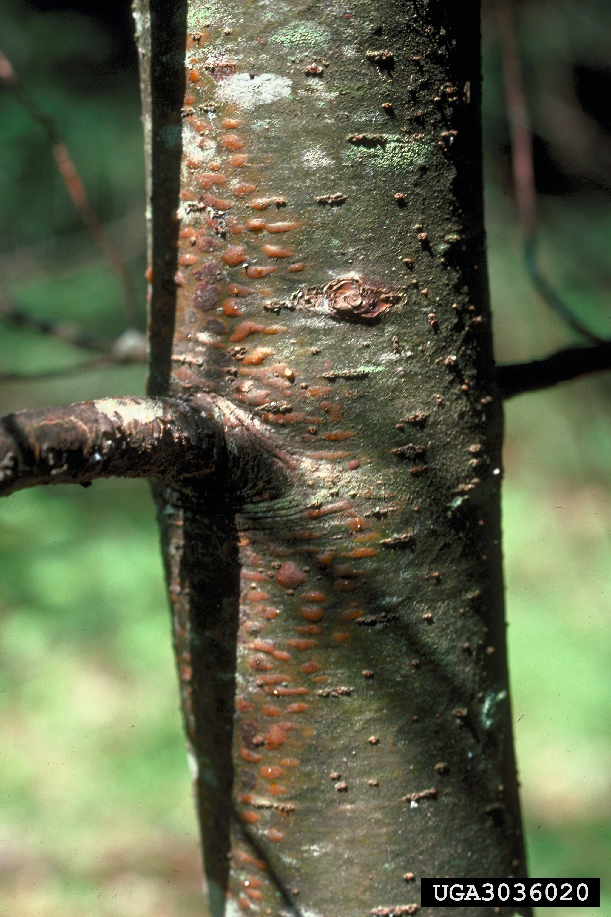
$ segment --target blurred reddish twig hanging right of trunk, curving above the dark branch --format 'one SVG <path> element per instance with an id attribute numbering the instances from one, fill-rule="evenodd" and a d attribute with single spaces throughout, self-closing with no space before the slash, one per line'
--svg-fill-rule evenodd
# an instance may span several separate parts
<path id="1" fill-rule="evenodd" d="M 516 204 L 524 241 L 524 257 L 537 293 L 550 308 L 560 315 L 566 325 L 577 334 L 598 344 L 601 337 L 595 335 L 573 315 L 572 310 L 562 302 L 551 283 L 543 275 L 537 257 L 537 192 L 532 160 L 532 132 L 529 110 L 524 94 L 522 72 L 519 61 L 518 39 L 514 18 L 513 0 L 497 0 L 496 13 L 503 57 L 507 116 L 511 135 L 511 168 L 513 171 Z"/>

